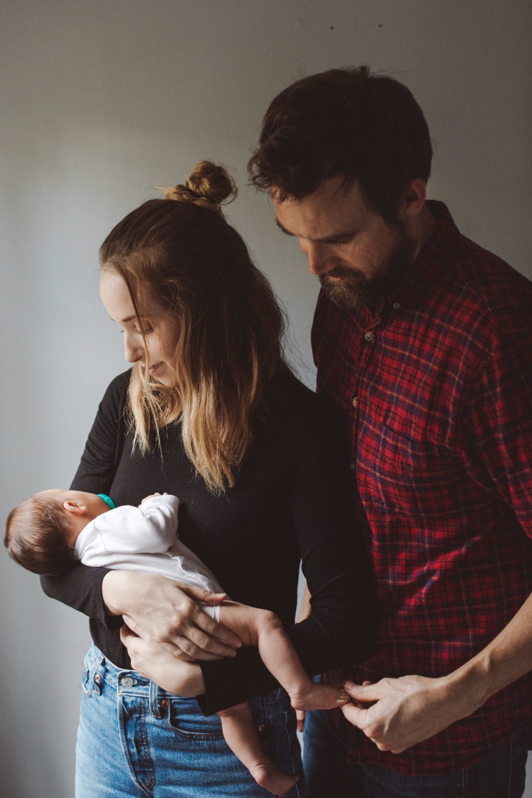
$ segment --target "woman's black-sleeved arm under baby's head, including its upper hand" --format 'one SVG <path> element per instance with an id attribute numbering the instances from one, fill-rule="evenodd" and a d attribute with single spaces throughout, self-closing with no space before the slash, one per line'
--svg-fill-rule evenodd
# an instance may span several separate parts
<path id="1" fill-rule="evenodd" d="M 116 377 L 100 402 L 71 485 L 75 490 L 111 491 L 126 433 L 128 379 L 129 372 Z M 46 595 L 96 619 L 109 631 L 119 629 L 121 616 L 128 615 L 137 634 L 183 658 L 231 657 L 240 645 L 234 634 L 216 624 L 195 603 L 216 603 L 222 600 L 220 597 L 188 586 L 180 590 L 164 577 L 77 563 L 61 577 L 41 577 L 41 584 Z"/>

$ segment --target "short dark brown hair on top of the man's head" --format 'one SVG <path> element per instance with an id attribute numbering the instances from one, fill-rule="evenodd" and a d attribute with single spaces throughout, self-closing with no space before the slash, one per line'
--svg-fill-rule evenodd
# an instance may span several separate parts
<path id="1" fill-rule="evenodd" d="M 251 183 L 278 199 L 302 199 L 323 180 L 358 180 L 368 207 L 388 223 L 408 185 L 427 182 L 432 144 L 409 89 L 368 67 L 329 69 L 278 94 L 250 159 Z"/>

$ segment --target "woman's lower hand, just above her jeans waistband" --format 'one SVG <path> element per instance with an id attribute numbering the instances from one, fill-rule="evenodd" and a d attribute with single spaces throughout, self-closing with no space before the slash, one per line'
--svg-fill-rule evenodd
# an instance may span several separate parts
<path id="1" fill-rule="evenodd" d="M 132 668 L 141 676 L 179 696 L 193 697 L 204 692 L 199 665 L 172 657 L 162 646 L 144 641 L 128 626 L 122 626 L 120 638 L 128 650 Z"/>

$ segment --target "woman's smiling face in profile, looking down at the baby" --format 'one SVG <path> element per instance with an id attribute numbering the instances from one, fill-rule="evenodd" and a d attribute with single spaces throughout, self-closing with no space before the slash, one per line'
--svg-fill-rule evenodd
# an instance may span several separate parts
<path id="1" fill-rule="evenodd" d="M 103 271 L 100 279 L 100 298 L 113 322 L 124 330 L 124 356 L 128 363 L 140 362 L 144 369 L 167 388 L 175 388 L 175 347 L 179 340 L 179 323 L 154 305 L 149 316 L 142 319 L 144 336 L 128 286 L 115 271 Z"/>

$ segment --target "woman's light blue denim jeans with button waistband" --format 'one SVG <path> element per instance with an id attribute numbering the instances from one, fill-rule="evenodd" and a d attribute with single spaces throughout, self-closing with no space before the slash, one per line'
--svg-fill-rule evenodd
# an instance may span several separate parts
<path id="1" fill-rule="evenodd" d="M 281 688 L 250 701 L 262 747 L 298 772 L 287 793 L 307 798 L 294 710 Z M 93 646 L 85 658 L 76 746 L 76 798 L 266 798 L 223 739 L 218 715 L 193 698 L 120 670 Z M 270 796 L 271 798 L 271 796 Z"/>

